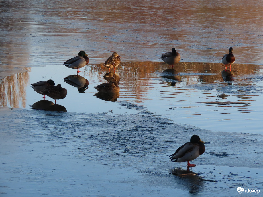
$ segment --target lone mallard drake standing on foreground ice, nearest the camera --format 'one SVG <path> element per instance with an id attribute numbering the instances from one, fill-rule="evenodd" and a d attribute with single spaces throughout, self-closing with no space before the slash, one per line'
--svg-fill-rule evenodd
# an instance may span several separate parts
<path id="1" fill-rule="evenodd" d="M 205 145 L 199 136 L 193 135 L 190 142 L 185 143 L 179 147 L 174 154 L 170 155 L 169 160 L 174 162 L 185 162 L 187 161 L 188 167 L 195 167 L 195 164 L 190 164 L 192 161 L 202 155 L 205 152 Z M 172 156 L 172 157 L 171 157 Z"/>

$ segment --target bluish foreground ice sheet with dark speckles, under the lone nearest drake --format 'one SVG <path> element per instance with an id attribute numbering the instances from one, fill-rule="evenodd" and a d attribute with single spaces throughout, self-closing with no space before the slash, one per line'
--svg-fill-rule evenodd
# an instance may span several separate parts
<path id="1" fill-rule="evenodd" d="M 7 196 L 224 196 L 214 187 L 235 196 L 236 186 L 262 188 L 261 135 L 180 126 L 144 108 L 132 115 L 0 110 Z M 168 156 L 192 134 L 207 142 L 190 169 L 197 177 L 174 176 L 186 164 Z"/>

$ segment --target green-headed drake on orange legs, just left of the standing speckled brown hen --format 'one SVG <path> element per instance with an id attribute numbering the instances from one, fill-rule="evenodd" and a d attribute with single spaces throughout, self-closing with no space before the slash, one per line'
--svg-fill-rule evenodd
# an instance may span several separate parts
<path id="1" fill-rule="evenodd" d="M 88 63 L 88 55 L 85 53 L 85 51 L 80 51 L 78 56 L 65 61 L 63 65 L 65 65 L 68 68 L 78 69 L 77 73 L 81 73 L 81 71 L 79 71 L 79 68 L 84 67 Z"/>

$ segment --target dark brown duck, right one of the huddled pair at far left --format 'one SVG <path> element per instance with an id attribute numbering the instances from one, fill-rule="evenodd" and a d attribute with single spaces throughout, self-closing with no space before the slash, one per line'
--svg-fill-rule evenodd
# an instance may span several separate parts
<path id="1" fill-rule="evenodd" d="M 55 104 L 56 104 L 56 99 L 64 99 L 68 93 L 66 88 L 62 88 L 61 84 L 54 85 L 54 86 L 47 86 L 42 93 L 45 95 L 49 96 L 52 99 L 55 99 Z"/>

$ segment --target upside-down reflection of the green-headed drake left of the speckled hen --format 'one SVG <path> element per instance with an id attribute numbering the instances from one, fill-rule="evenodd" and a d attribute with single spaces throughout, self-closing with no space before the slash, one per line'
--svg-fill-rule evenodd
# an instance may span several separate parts
<path id="1" fill-rule="evenodd" d="M 79 93 L 85 93 L 88 89 L 89 81 L 80 75 L 69 75 L 64 78 L 64 81 L 73 87 L 78 88 Z"/>

